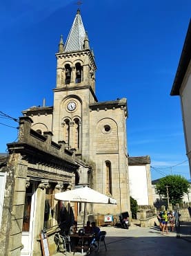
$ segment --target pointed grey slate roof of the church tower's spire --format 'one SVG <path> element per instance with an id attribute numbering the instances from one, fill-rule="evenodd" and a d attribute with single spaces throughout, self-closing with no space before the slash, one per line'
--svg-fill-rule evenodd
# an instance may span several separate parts
<path id="1" fill-rule="evenodd" d="M 86 31 L 83 26 L 83 22 L 80 15 L 80 10 L 77 10 L 77 15 L 74 18 L 72 28 L 66 40 L 64 51 L 81 51 L 83 50 L 84 38 L 86 37 Z"/>

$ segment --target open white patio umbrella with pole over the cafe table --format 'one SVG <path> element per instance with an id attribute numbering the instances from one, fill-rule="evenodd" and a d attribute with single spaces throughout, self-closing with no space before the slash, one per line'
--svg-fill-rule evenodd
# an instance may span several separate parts
<path id="1" fill-rule="evenodd" d="M 92 190 L 88 187 L 76 188 L 74 190 L 68 190 L 65 192 L 54 194 L 54 198 L 61 201 L 79 202 L 85 203 L 83 226 L 85 223 L 86 215 L 86 203 L 105 203 L 105 204 L 117 204 L 117 201 L 105 194 L 101 194 L 96 190 Z"/>

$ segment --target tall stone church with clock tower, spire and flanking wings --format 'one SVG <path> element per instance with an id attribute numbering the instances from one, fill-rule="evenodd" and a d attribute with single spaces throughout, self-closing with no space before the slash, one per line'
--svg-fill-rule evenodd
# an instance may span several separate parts
<path id="1" fill-rule="evenodd" d="M 97 66 L 80 10 L 66 43 L 61 36 L 56 57 L 53 107 L 32 107 L 23 111 L 23 116 L 32 119 L 32 129 L 40 134 L 51 131 L 54 142 L 63 143 L 74 152 L 75 161 L 80 165 L 75 173 L 75 185 L 88 185 L 117 199 L 117 209 L 94 205 L 94 212 L 130 211 L 127 100 L 98 102 Z"/>

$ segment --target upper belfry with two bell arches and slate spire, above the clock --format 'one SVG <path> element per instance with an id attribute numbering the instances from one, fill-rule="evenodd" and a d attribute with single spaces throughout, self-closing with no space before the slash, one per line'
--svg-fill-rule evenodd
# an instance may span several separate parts
<path id="1" fill-rule="evenodd" d="M 95 89 L 95 71 L 93 51 L 90 50 L 88 33 L 85 31 L 80 15 L 74 18 L 72 28 L 63 44 L 63 36 L 59 42 L 57 57 L 57 88 L 73 88 L 90 86 Z"/>

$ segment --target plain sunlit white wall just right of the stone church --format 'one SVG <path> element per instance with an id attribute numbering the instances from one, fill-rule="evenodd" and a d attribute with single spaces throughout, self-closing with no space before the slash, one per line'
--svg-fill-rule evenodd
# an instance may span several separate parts
<path id="1" fill-rule="evenodd" d="M 130 166 L 130 196 L 137 200 L 138 205 L 148 205 L 148 182 L 145 166 Z"/>

